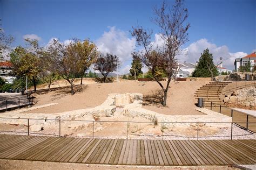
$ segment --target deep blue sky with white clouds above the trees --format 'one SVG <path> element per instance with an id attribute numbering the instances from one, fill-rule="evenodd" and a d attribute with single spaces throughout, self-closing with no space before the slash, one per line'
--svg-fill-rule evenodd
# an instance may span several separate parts
<path id="1" fill-rule="evenodd" d="M 100 49 L 120 55 L 122 72 L 126 72 L 134 48 L 129 31 L 138 22 L 158 33 L 151 18 L 153 7 L 159 7 L 161 2 L 0 0 L 0 18 L 5 32 L 16 39 L 12 46 L 24 45 L 23 37 L 31 34 L 35 34 L 32 37 L 38 38 L 42 46 L 51 38 L 62 41 L 90 38 Z M 185 6 L 189 12 L 187 22 L 191 24 L 190 41 L 183 47 L 188 51 L 187 56 L 180 61 L 196 62 L 208 47 L 216 61 L 223 56 L 224 66 L 233 69 L 234 58 L 256 49 L 256 1 L 188 0 Z"/>

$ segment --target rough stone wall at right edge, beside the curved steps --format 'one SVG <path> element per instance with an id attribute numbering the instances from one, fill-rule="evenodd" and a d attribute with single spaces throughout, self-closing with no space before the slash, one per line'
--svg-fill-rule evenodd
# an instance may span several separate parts
<path id="1" fill-rule="evenodd" d="M 227 95 L 223 102 L 230 107 L 241 107 L 256 110 L 256 88 L 247 87 L 233 91 Z"/>

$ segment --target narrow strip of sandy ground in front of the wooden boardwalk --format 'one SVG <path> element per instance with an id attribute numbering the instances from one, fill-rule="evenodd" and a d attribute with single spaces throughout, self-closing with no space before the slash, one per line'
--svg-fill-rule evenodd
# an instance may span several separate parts
<path id="1" fill-rule="evenodd" d="M 240 169 L 232 166 L 123 166 L 0 159 L 0 169 Z"/>

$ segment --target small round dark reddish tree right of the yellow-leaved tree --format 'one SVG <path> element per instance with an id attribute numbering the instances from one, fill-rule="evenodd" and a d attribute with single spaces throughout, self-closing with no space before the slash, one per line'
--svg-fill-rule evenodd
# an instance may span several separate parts
<path id="1" fill-rule="evenodd" d="M 101 53 L 95 63 L 94 69 L 98 70 L 100 74 L 103 75 L 103 82 L 105 83 L 107 75 L 109 75 L 110 72 L 116 71 L 118 65 L 120 65 L 118 56 L 110 53 L 106 53 L 106 55 Z"/>

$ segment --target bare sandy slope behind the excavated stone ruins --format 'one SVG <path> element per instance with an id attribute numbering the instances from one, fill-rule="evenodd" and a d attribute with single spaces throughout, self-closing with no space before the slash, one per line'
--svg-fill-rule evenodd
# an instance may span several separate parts
<path id="1" fill-rule="evenodd" d="M 84 80 L 86 82 L 86 80 Z M 194 93 L 206 84 L 207 80 L 172 82 L 170 84 L 167 106 L 159 102 L 161 88 L 157 82 L 123 81 L 113 83 L 90 83 L 77 88 L 75 95 L 70 94 L 70 88 L 34 94 L 36 105 L 59 103 L 51 107 L 33 110 L 33 113 L 57 113 L 76 109 L 93 108 L 102 104 L 111 93 L 142 93 L 145 109 L 166 115 L 200 115 L 194 110 L 197 103 Z M 163 82 L 165 85 L 166 82 Z"/>

